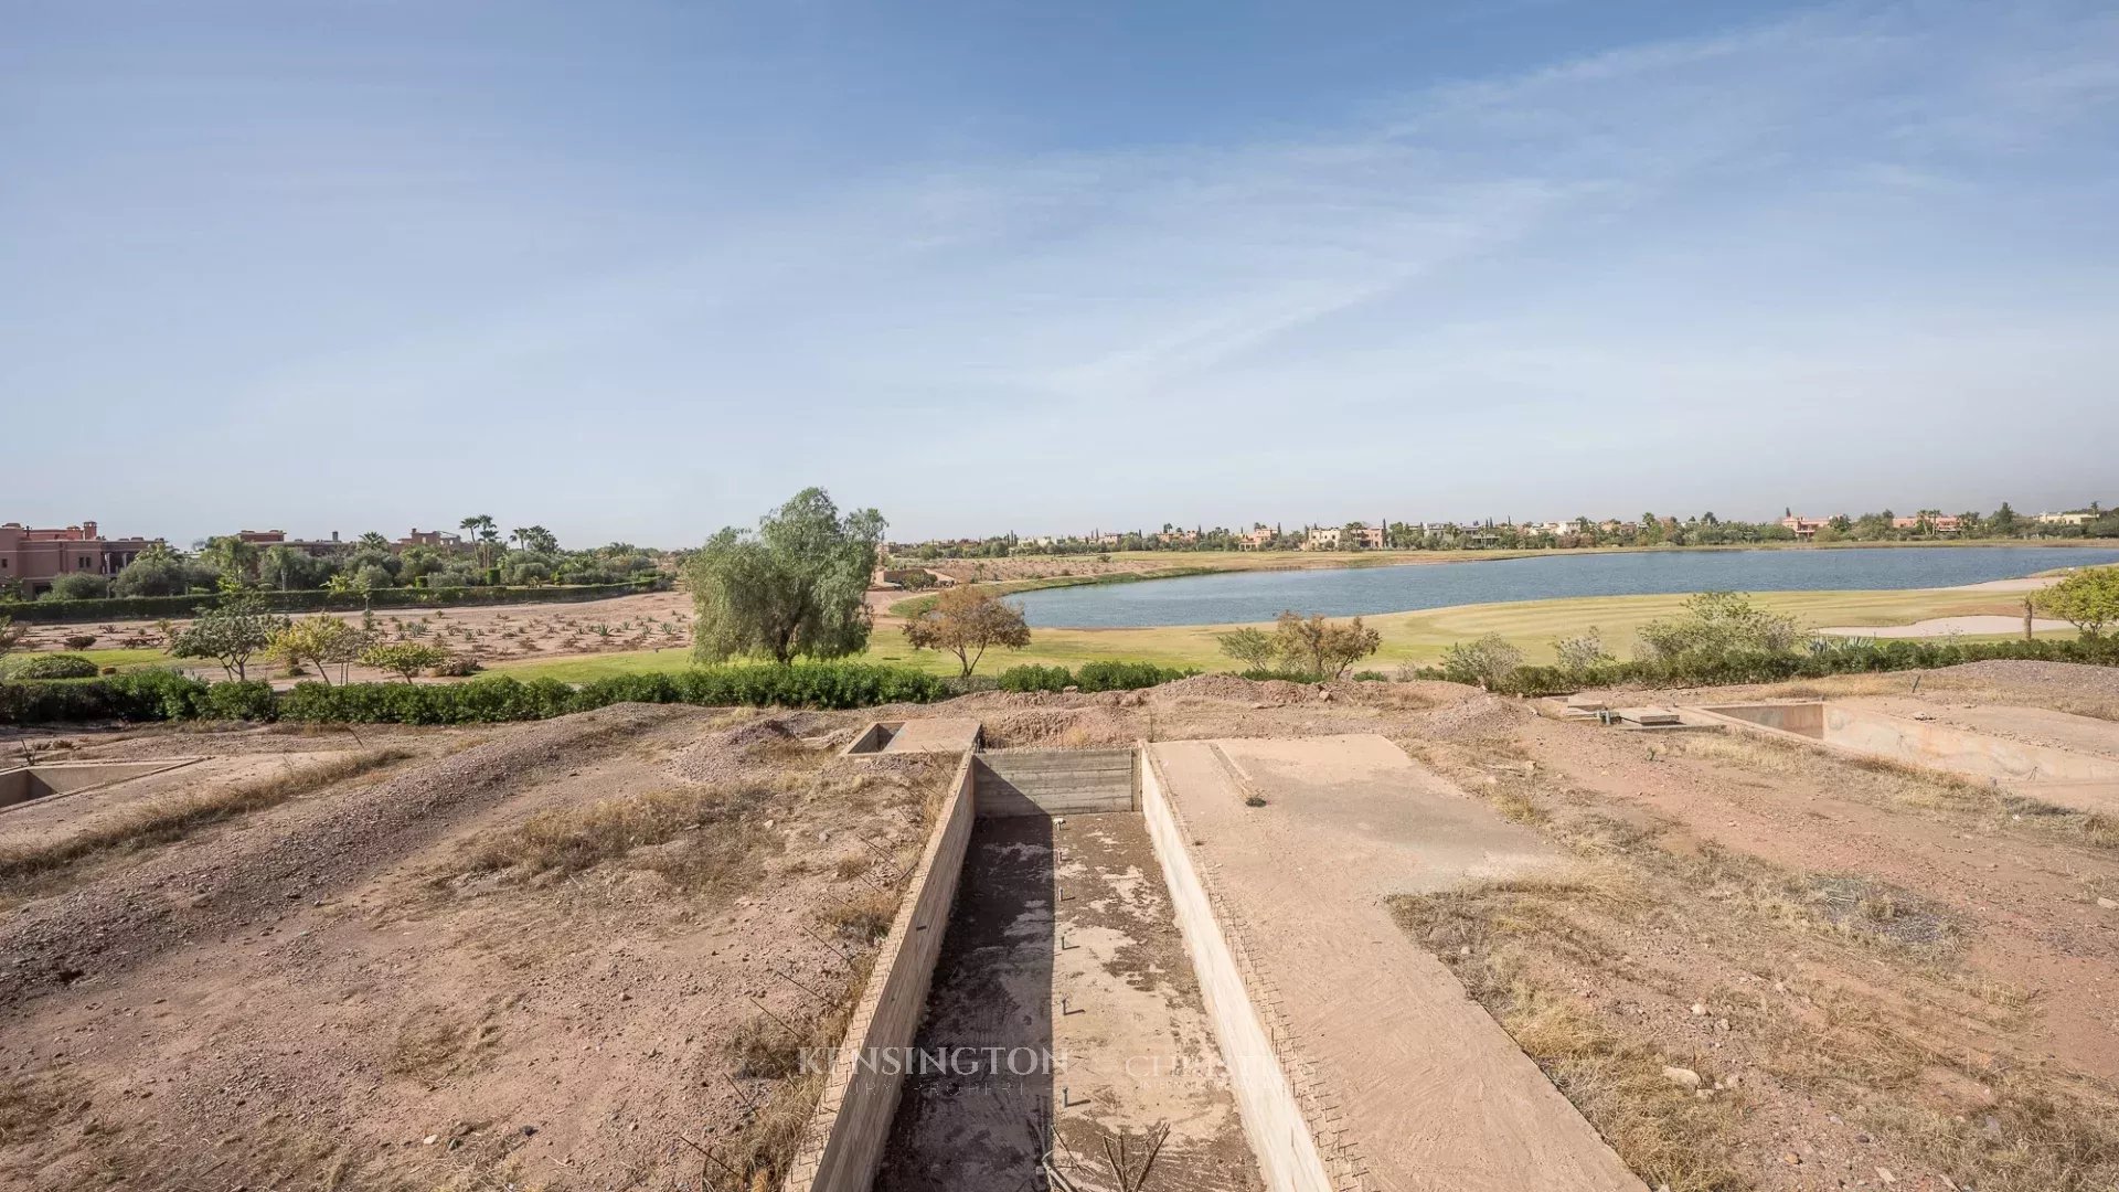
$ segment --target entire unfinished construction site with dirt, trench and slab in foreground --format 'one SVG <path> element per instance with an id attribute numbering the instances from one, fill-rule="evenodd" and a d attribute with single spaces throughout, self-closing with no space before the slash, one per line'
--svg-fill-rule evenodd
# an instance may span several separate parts
<path id="1" fill-rule="evenodd" d="M 2111 670 L 0 744 L 8 1188 L 2119 1188 Z"/>

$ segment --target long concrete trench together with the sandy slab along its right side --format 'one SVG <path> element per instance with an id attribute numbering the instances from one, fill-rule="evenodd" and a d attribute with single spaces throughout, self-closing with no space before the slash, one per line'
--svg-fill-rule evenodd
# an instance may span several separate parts
<path id="1" fill-rule="evenodd" d="M 1644 1192 L 1375 895 L 1303 878 L 1566 863 L 1422 774 L 1384 738 L 966 753 L 784 1190 Z"/>

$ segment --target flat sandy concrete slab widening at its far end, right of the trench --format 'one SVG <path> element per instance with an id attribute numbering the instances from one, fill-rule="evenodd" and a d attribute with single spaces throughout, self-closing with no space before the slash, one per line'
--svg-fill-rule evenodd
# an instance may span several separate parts
<path id="1" fill-rule="evenodd" d="M 1187 740 L 1151 755 L 1373 1188 L 1644 1192 L 1386 908 L 1401 893 L 1562 874 L 1557 846 L 1382 736 Z"/>

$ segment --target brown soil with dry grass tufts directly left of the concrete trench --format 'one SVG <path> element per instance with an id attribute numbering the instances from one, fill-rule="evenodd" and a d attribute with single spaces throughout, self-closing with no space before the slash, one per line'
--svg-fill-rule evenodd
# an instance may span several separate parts
<path id="1" fill-rule="evenodd" d="M 434 734 L 441 759 L 38 889 L 0 923 L 0 1186 L 697 1179 L 678 1135 L 733 1154 L 771 1094 L 733 1035 L 852 982 L 860 944 L 831 916 L 911 855 L 947 766 L 839 764 L 850 728 L 797 721 L 826 732 L 807 747 L 735 719 Z M 593 863 L 481 859 L 540 823 L 595 840 L 564 817 L 672 793 L 714 827 L 634 827 Z"/>

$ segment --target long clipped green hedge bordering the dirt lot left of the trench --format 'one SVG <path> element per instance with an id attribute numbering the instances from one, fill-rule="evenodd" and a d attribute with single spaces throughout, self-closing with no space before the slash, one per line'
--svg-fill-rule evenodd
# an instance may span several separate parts
<path id="1" fill-rule="evenodd" d="M 704 704 L 865 708 L 947 698 L 934 674 L 865 662 L 788 666 L 701 666 L 676 674 L 621 674 L 572 687 L 557 679 L 470 683 L 201 683 L 174 670 L 106 679 L 0 683 L 0 723 L 57 721 L 324 721 L 324 723 L 494 723 L 536 721 L 606 704 Z"/>

